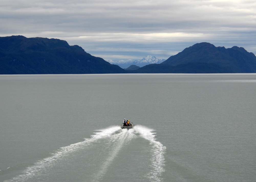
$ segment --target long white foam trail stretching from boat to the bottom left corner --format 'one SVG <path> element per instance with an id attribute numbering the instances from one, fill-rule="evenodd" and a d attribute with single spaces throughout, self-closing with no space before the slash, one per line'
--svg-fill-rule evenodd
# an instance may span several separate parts
<path id="1" fill-rule="evenodd" d="M 51 166 L 54 166 L 58 160 L 65 158 L 70 153 L 75 152 L 84 146 L 88 146 L 92 142 L 97 141 L 98 139 L 110 137 L 113 133 L 117 132 L 118 130 L 121 130 L 119 126 L 113 126 L 107 129 L 102 129 L 99 130 L 100 132 L 96 132 L 94 133 L 94 135 L 91 135 L 91 138 L 86 138 L 82 142 L 71 144 L 66 147 L 61 147 L 58 149 L 57 152 L 53 153 L 51 157 L 36 162 L 33 166 L 27 167 L 23 174 L 14 177 L 13 179 L 6 180 L 4 182 L 24 182 L 33 177 L 40 176 L 42 172 L 45 171 L 46 167 L 49 168 Z"/>

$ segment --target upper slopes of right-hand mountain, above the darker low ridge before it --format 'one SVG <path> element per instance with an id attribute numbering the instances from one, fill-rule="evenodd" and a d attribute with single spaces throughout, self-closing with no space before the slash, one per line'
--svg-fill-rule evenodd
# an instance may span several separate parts
<path id="1" fill-rule="evenodd" d="M 216 64 L 221 73 L 255 73 L 256 57 L 242 47 L 215 47 L 210 43 L 198 43 L 169 57 L 161 64 L 179 66 L 188 63 Z M 184 70 L 185 71 L 185 70 Z"/>

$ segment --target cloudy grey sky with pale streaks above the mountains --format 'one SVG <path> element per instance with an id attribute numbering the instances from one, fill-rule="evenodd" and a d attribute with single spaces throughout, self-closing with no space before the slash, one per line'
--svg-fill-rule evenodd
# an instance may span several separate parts
<path id="1" fill-rule="evenodd" d="M 200 42 L 256 55 L 255 0 L 1 0 L 0 24 L 1 37 L 58 38 L 113 61 Z"/>

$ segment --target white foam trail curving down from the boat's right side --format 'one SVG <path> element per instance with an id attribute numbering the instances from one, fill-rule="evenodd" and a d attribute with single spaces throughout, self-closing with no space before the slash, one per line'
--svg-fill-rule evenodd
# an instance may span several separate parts
<path id="1" fill-rule="evenodd" d="M 155 133 L 152 133 L 152 129 L 141 125 L 135 126 L 134 129 L 141 137 L 149 140 L 152 145 L 151 166 L 153 169 L 146 175 L 146 177 L 149 178 L 150 181 L 162 181 L 161 175 L 165 171 L 163 167 L 165 165 L 164 153 L 166 151 L 166 147 L 159 141 L 156 141 Z"/>

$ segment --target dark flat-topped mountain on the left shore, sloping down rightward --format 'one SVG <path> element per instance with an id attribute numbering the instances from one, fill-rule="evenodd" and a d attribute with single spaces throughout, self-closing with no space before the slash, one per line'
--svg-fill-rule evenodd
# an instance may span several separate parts
<path id="1" fill-rule="evenodd" d="M 0 37 L 0 74 L 125 73 L 78 45 L 48 38 Z"/>

